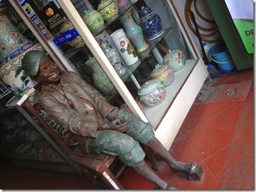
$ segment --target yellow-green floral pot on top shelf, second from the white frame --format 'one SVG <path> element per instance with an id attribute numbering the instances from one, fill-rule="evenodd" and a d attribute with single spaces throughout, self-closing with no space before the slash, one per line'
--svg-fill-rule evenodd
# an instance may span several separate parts
<path id="1" fill-rule="evenodd" d="M 101 0 L 98 12 L 103 16 L 104 21 L 112 21 L 118 16 L 118 5 L 113 0 Z"/>

